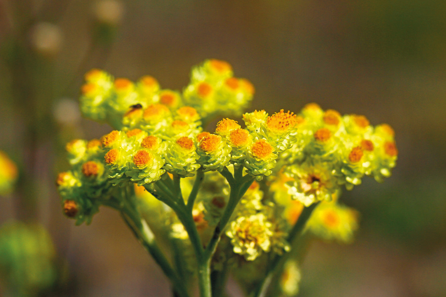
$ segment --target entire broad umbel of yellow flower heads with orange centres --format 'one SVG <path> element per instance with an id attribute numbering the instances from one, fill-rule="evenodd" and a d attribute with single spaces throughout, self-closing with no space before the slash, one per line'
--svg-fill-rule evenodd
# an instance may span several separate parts
<path id="1" fill-rule="evenodd" d="M 77 224 L 90 223 L 100 205 L 126 220 L 143 218 L 151 232 L 182 246 L 172 250 L 183 259 L 180 270 L 194 272 L 205 256 L 222 271 L 287 253 L 301 212 L 317 204 L 306 230 L 349 242 L 357 213 L 338 203 L 341 187 L 350 190 L 364 175 L 381 181 L 395 166 L 389 125 L 315 103 L 299 114 L 245 113 L 243 126 L 223 118 L 213 133 L 203 132 L 202 122 L 215 115 L 241 115 L 254 94 L 224 61 L 194 67 L 182 92 L 161 89 L 150 76 L 132 82 L 94 69 L 85 79 L 83 114 L 116 130 L 67 144 L 71 169 L 57 178 L 64 212 Z M 235 277 L 256 284 L 262 271 Z"/>

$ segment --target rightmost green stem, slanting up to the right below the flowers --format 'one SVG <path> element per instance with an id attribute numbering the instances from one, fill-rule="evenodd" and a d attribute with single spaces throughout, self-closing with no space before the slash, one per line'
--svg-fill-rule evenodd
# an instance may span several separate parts
<path id="1" fill-rule="evenodd" d="M 296 224 L 294 224 L 293 228 L 289 232 L 288 235 L 288 242 L 290 244 L 293 243 L 294 240 L 299 238 L 304 231 L 304 227 L 310 219 L 311 214 L 314 211 L 314 208 L 318 206 L 319 202 L 311 204 L 309 207 L 305 207 L 299 216 L 299 219 L 297 219 Z M 251 295 L 252 297 L 265 297 L 266 293 L 268 292 L 269 285 L 271 284 L 271 281 L 273 280 L 273 277 L 281 270 L 283 265 L 285 264 L 285 261 L 288 258 L 288 254 L 283 254 L 281 256 L 277 255 L 274 257 L 273 261 L 268 265 L 267 267 L 267 275 L 264 278 L 264 280 L 260 283 L 257 290 Z"/>

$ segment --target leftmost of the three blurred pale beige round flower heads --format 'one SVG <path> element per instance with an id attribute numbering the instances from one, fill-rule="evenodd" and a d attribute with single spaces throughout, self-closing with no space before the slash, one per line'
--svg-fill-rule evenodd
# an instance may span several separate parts
<path id="1" fill-rule="evenodd" d="M 62 30 L 55 24 L 40 22 L 32 28 L 30 39 L 38 53 L 55 55 L 62 46 Z"/>

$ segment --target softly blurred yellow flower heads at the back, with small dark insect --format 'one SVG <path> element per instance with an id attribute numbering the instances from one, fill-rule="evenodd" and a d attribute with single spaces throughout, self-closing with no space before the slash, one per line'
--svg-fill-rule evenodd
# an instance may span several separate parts
<path id="1" fill-rule="evenodd" d="M 240 115 L 254 94 L 254 87 L 248 80 L 233 77 L 231 65 L 216 59 L 192 68 L 190 84 L 182 92 L 161 89 L 151 76 L 132 82 L 127 78 L 114 78 L 99 69 L 88 72 L 85 81 L 80 98 L 83 114 L 108 122 L 116 129 L 154 123 L 158 123 L 155 125 L 158 128 L 169 125 L 166 119 L 169 110 L 178 110 L 181 106 L 194 107 L 201 117 Z M 129 106 L 132 106 L 130 110 Z M 145 110 L 149 106 L 153 108 Z M 183 110 L 182 115 L 180 120 L 186 122 L 196 117 L 187 115 L 187 110 Z"/>

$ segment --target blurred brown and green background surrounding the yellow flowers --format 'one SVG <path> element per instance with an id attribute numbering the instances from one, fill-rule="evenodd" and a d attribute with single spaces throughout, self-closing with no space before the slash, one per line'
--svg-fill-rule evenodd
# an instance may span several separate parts
<path id="1" fill-rule="evenodd" d="M 317 102 L 396 131 L 392 177 L 343 194 L 361 213 L 355 242 L 314 241 L 299 296 L 446 296 L 445 13 L 444 0 L 0 0 L 0 150 L 18 166 L 0 235 L 50 263 L 9 282 L 29 277 L 40 296 L 170 295 L 118 213 L 74 226 L 54 180 L 67 141 L 110 130 L 80 116 L 83 73 L 149 74 L 181 90 L 192 65 L 217 58 L 256 87 L 249 111 Z M 13 260 L 5 242 L 2 263 Z"/>

